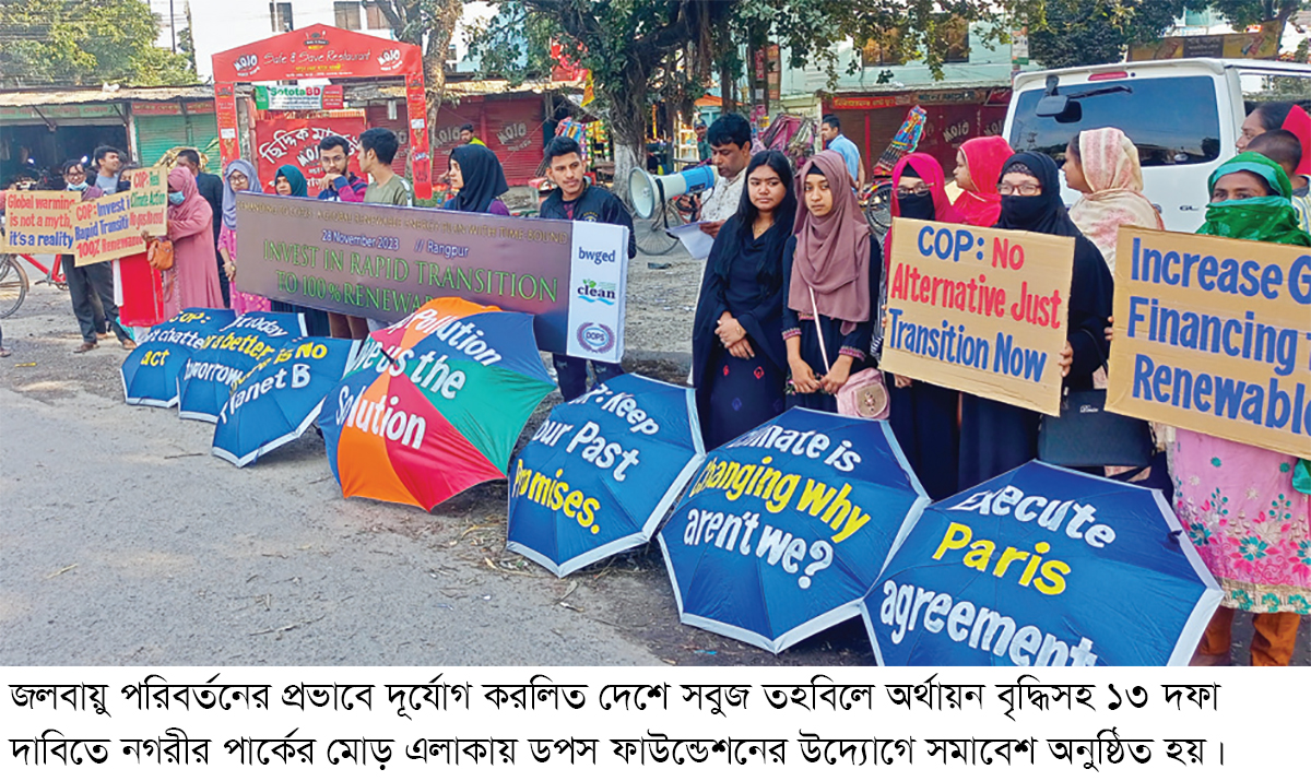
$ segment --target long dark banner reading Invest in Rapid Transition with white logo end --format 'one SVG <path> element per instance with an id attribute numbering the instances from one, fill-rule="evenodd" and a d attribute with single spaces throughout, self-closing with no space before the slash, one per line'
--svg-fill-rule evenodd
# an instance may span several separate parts
<path id="1" fill-rule="evenodd" d="M 237 195 L 243 292 L 395 322 L 455 296 L 534 314 L 538 346 L 624 355 L 628 231 L 602 223 Z"/>

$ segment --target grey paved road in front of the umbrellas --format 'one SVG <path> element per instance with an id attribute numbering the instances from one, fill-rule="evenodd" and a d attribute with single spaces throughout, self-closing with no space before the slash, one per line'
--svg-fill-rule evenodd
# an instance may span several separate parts
<path id="1" fill-rule="evenodd" d="M 236 469 L 208 425 L 122 402 L 117 343 L 72 354 L 67 294 L 3 325 L 0 664 L 873 662 L 855 621 L 780 658 L 680 625 L 656 546 L 557 581 L 505 553 L 503 482 L 431 515 L 343 501 L 313 434 Z"/>

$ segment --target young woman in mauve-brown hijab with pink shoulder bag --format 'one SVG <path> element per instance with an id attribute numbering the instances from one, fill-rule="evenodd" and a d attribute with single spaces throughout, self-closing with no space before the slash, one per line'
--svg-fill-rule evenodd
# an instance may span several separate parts
<path id="1" fill-rule="evenodd" d="M 871 363 L 882 253 L 842 155 L 808 160 L 797 187 L 796 236 L 783 249 L 787 405 L 838 411 L 838 390 Z"/>

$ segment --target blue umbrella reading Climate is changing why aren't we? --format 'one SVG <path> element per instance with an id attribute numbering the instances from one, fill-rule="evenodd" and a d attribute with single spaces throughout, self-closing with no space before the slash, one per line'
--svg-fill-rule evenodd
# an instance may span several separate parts
<path id="1" fill-rule="evenodd" d="M 852 619 L 926 505 L 888 423 L 791 409 L 711 452 L 659 532 L 683 622 L 779 653 Z"/>

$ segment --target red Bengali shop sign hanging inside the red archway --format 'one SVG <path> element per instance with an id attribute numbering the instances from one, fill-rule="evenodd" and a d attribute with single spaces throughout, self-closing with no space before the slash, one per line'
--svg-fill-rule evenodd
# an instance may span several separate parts
<path id="1" fill-rule="evenodd" d="M 295 119 L 275 117 L 261 119 L 254 126 L 256 165 L 265 193 L 273 193 L 273 181 L 283 165 L 295 165 L 309 181 L 309 197 L 319 197 L 319 180 L 324 169 L 319 165 L 319 142 L 330 135 L 340 135 L 350 143 L 346 161 L 351 172 L 359 176 L 359 134 L 364 132 L 363 117 L 321 117 L 315 119 Z"/>

